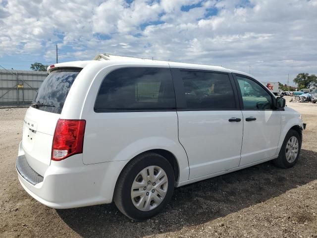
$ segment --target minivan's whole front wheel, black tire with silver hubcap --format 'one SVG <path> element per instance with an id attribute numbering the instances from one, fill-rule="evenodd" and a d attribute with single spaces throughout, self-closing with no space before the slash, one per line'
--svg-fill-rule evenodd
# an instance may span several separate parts
<path id="1" fill-rule="evenodd" d="M 291 129 L 285 136 L 278 157 L 273 160 L 274 165 L 284 169 L 293 167 L 299 158 L 301 146 L 300 134 Z"/>

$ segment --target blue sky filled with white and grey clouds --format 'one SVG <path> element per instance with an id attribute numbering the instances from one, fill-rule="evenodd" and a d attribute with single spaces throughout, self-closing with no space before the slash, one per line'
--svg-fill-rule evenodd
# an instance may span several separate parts
<path id="1" fill-rule="evenodd" d="M 0 65 L 98 53 L 317 74 L 317 0 L 0 0 Z M 250 67 L 251 66 L 251 67 Z"/>

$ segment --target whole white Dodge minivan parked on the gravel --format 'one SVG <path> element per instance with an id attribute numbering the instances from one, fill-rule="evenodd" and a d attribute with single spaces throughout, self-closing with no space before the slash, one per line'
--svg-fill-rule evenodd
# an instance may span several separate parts
<path id="1" fill-rule="evenodd" d="M 251 75 L 156 60 L 51 65 L 27 110 L 16 170 L 61 209 L 111 203 L 158 214 L 174 187 L 273 160 L 298 160 L 301 115 Z"/>

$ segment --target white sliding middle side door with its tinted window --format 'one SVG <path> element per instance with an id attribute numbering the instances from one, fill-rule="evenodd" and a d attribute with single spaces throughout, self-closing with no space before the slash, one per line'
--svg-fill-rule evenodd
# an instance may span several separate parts
<path id="1" fill-rule="evenodd" d="M 243 121 L 229 74 L 186 69 L 172 72 L 179 141 L 188 156 L 189 179 L 238 167 Z"/>

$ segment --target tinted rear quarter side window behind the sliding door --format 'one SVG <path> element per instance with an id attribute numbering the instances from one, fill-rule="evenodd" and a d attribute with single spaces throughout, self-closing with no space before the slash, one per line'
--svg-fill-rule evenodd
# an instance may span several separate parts
<path id="1" fill-rule="evenodd" d="M 175 110 L 169 68 L 131 67 L 110 72 L 101 84 L 95 112 Z"/>

